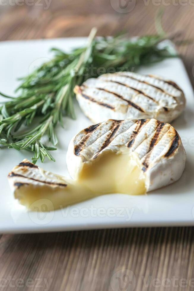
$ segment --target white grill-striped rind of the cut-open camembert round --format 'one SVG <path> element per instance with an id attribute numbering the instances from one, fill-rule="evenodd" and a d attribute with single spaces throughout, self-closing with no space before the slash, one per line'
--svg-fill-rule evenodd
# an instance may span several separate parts
<path id="1" fill-rule="evenodd" d="M 170 124 L 152 119 L 109 119 L 91 125 L 72 138 L 67 167 L 77 179 L 84 163 L 91 163 L 104 151 L 138 157 L 151 191 L 178 180 L 185 168 L 186 154 L 181 139 Z"/>

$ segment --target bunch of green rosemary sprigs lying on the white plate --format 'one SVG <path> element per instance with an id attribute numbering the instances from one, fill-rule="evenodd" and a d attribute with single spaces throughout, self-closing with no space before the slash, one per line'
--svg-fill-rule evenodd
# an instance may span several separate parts
<path id="1" fill-rule="evenodd" d="M 20 92 L 18 97 L 0 93 L 9 99 L 0 106 L 1 146 L 34 152 L 34 163 L 38 159 L 43 162 L 45 156 L 55 161 L 49 151 L 56 148 L 43 145 L 42 137 L 47 136 L 56 146 L 55 126 L 58 122 L 63 126 L 64 115 L 75 118 L 75 85 L 106 72 L 133 70 L 176 56 L 168 46 L 158 46 L 166 38 L 163 31 L 137 39 L 123 36 L 95 38 L 95 35 L 96 29 L 93 28 L 86 47 L 76 48 L 70 53 L 52 49 L 55 56 L 51 61 L 20 78 L 22 83 L 16 90 Z M 39 124 L 36 123 L 37 117 L 41 118 Z M 24 128 L 25 132 L 18 134 Z"/>

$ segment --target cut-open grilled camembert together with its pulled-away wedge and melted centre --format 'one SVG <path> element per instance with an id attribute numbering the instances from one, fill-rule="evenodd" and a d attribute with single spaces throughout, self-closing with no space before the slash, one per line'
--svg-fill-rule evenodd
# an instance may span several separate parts
<path id="1" fill-rule="evenodd" d="M 185 159 L 181 139 L 170 124 L 110 119 L 72 138 L 66 161 L 74 180 L 26 159 L 8 178 L 21 204 L 32 211 L 50 211 L 102 194 L 138 195 L 166 186 L 181 177 Z"/>

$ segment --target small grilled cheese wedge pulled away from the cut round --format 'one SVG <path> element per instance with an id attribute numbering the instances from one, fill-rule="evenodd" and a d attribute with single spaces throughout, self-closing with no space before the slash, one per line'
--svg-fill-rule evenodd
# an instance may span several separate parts
<path id="1" fill-rule="evenodd" d="M 87 187 L 24 159 L 8 175 L 15 199 L 31 211 L 50 211 L 95 197 Z"/>

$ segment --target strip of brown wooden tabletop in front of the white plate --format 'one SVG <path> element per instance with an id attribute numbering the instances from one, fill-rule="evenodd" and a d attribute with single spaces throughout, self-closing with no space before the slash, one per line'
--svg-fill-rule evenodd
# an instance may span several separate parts
<path id="1" fill-rule="evenodd" d="M 156 285 L 158 290 L 167 285 L 167 290 L 183 290 L 183 279 L 188 285 L 184 290 L 194 285 L 192 227 L 3 235 L 0 258 L 5 290 L 13 290 L 9 279 L 14 290 L 23 290 L 16 286 L 19 278 L 26 284 L 44 279 L 44 287 L 37 290 L 44 290 L 47 282 L 53 291 L 118 291 L 119 281 L 124 290 L 131 290 L 124 275 L 132 279 L 131 286 L 135 282 L 134 290 L 156 290 Z"/>

